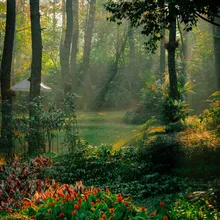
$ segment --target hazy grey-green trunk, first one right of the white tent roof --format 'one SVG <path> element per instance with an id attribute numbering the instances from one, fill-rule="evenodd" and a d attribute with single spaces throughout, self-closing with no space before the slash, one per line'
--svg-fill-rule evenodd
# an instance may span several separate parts
<path id="1" fill-rule="evenodd" d="M 66 33 L 63 47 L 63 60 L 61 62 L 62 77 L 64 82 L 64 95 L 71 92 L 70 76 L 70 47 L 73 33 L 73 9 L 72 0 L 66 0 Z"/>

